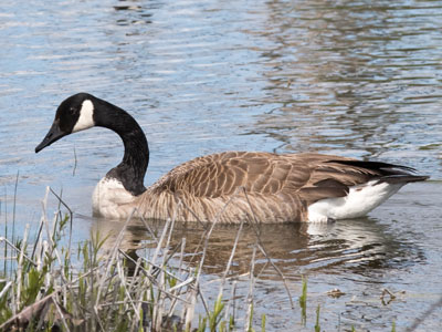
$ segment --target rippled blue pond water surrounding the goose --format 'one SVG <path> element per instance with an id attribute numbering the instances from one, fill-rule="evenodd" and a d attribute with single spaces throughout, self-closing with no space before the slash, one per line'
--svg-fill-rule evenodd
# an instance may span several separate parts
<path id="1" fill-rule="evenodd" d="M 313 331 L 318 304 L 326 331 L 390 331 L 393 321 L 403 331 L 439 300 L 441 2 L 31 0 L 0 8 L 1 232 L 12 220 L 15 234 L 36 227 L 46 186 L 75 211 L 76 241 L 103 226 L 91 218 L 91 194 L 122 158 L 118 137 L 94 128 L 33 152 L 60 102 L 85 91 L 137 118 L 151 151 L 147 184 L 229 149 L 338 154 L 431 175 L 364 219 L 262 227 L 295 304 L 301 276 L 308 278 L 303 326 L 280 274 L 271 267 L 260 274 L 254 309 L 256 320 L 266 314 L 267 331 Z M 200 234 L 177 232 L 191 252 Z M 234 227 L 213 235 L 207 280 L 219 278 L 235 235 Z M 236 273 L 250 268 L 253 237 L 243 231 Z M 240 279 L 240 297 L 248 287 Z M 328 297 L 335 288 L 344 294 Z M 398 297 L 382 302 L 382 289 Z M 438 330 L 441 317 L 435 309 L 419 331 Z"/>

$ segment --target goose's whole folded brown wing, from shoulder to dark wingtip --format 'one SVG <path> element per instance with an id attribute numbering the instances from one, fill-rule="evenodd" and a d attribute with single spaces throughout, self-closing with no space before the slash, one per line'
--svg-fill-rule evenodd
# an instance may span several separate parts
<path id="1" fill-rule="evenodd" d="M 158 180 L 155 190 L 186 191 L 194 197 L 233 195 L 238 187 L 250 194 L 297 195 L 307 204 L 343 197 L 349 186 L 391 174 L 383 163 L 320 154 L 228 152 L 187 162 Z M 382 170 L 383 169 L 383 170 Z"/>

